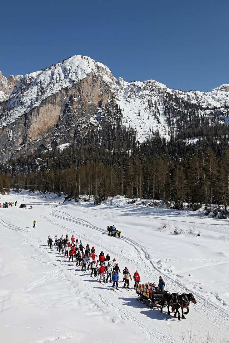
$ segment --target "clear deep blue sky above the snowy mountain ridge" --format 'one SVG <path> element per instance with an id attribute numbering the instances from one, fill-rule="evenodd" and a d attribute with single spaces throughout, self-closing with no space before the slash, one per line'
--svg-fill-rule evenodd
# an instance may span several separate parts
<path id="1" fill-rule="evenodd" d="M 229 2 L 1 2 L 4 76 L 46 68 L 73 55 L 104 63 L 125 81 L 181 90 L 229 83 Z"/>

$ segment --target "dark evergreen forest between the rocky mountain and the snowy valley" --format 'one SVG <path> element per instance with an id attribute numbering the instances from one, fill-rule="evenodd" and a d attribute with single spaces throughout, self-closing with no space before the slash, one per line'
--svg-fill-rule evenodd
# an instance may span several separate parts
<path id="1" fill-rule="evenodd" d="M 169 141 L 158 132 L 143 143 L 137 141 L 135 130 L 121 125 L 121 111 L 112 99 L 107 105 L 109 118 L 104 117 L 83 138 L 76 136 L 67 149 L 37 152 L 1 164 L 0 191 L 63 192 L 66 199 L 76 201 L 79 196 L 94 196 L 96 204 L 124 195 L 129 201 L 163 200 L 175 209 L 184 209 L 185 202 L 193 210 L 205 204 L 206 213 L 212 211 L 211 204 L 217 204 L 225 217 L 229 127 L 219 120 L 220 109 L 203 109 L 174 96 L 172 104 L 171 97 L 162 99 Z M 149 103 L 149 108 L 155 116 L 157 104 Z M 184 141 L 196 137 L 195 143 Z"/>

